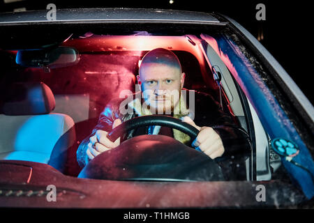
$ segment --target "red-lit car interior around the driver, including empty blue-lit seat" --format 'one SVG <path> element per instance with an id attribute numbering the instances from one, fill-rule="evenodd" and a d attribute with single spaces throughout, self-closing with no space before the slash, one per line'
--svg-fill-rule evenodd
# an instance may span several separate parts
<path id="1" fill-rule="evenodd" d="M 267 132 L 218 56 L 213 39 L 147 33 L 73 35 L 58 47 L 74 48 L 79 54 L 77 63 L 57 68 L 20 66 L 18 50 L 0 51 L 5 62 L 0 76 L 0 159 L 45 163 L 76 177 L 81 171 L 77 148 L 91 133 L 100 112 L 120 91 L 135 92 L 142 56 L 163 47 L 181 61 L 186 72 L 184 88 L 212 95 L 234 123 L 250 134 L 252 153 L 244 162 L 228 163 L 234 169 L 231 179 L 270 180 L 271 165 L 278 168 L 278 159 L 271 160 Z"/>

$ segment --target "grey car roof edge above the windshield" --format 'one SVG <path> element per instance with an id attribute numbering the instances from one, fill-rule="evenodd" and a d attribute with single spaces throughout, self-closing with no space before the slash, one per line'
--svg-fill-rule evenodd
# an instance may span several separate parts
<path id="1" fill-rule="evenodd" d="M 49 10 L 0 13 L 0 24 L 28 22 L 181 22 L 225 24 L 212 13 L 147 8 L 73 8 L 57 9 L 56 20 L 47 20 Z"/>

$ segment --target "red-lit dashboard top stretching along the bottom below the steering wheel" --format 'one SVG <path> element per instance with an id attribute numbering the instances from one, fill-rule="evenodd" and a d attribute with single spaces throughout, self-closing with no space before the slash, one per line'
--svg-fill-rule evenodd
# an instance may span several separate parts
<path id="1" fill-rule="evenodd" d="M 297 206 L 304 195 L 283 181 L 139 182 L 65 176 L 47 164 L 1 160 L 3 165 L 31 167 L 29 183 L 8 183 L 0 171 L 0 206 L 32 208 L 283 208 Z M 29 176 L 29 169 L 26 169 Z M 18 180 L 17 180 L 18 182 Z M 47 202 L 47 185 L 57 188 L 57 202 Z M 259 202 L 257 185 L 266 201 Z M 281 187 L 282 190 L 277 190 Z M 33 193 L 31 193 L 32 191 Z M 20 194 L 20 195 L 19 195 Z M 29 194 L 29 195 L 27 195 Z M 38 195 L 39 194 L 39 195 Z"/>

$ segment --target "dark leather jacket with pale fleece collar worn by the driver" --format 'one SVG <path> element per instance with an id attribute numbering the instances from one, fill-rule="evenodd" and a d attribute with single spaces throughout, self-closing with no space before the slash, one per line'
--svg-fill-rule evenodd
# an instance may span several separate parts
<path id="1" fill-rule="evenodd" d="M 187 93 L 181 94 L 179 111 L 173 112 L 172 116 L 181 118 L 188 115 L 193 119 L 196 125 L 213 128 L 219 134 L 225 148 L 222 157 L 217 157 L 216 159 L 223 160 L 224 158 L 237 155 L 246 157 L 251 151 L 251 141 L 246 131 L 234 124 L 230 114 L 223 112 L 220 108 L 220 104 L 216 102 L 211 95 L 187 89 L 183 90 Z M 194 105 L 188 106 L 192 105 L 191 100 L 189 100 L 192 93 L 195 99 Z M 189 95 L 189 97 L 187 95 Z M 93 136 L 97 130 L 110 132 L 112 130 L 112 124 L 117 118 L 120 118 L 121 121 L 124 122 L 136 116 L 149 114 L 147 110 L 143 109 L 142 99 L 139 99 L 138 96 L 140 96 L 140 92 L 134 93 L 131 97 L 128 97 L 128 100 L 126 98 L 115 98 L 106 105 L 91 134 L 86 137 L 79 148 L 77 148 L 77 162 L 80 167 L 84 167 L 89 161 L 87 157 L 87 144 L 89 144 L 89 138 Z M 121 102 L 125 102 L 124 104 L 128 105 L 128 113 L 121 112 Z M 194 107 L 194 109 L 192 109 L 192 107 Z M 175 139 L 190 145 L 190 137 L 178 130 L 172 129 L 172 131 L 172 135 Z M 158 134 L 158 130 L 156 131 L 156 126 L 131 130 L 125 134 L 124 137 L 121 137 L 121 142 L 139 134 Z"/>

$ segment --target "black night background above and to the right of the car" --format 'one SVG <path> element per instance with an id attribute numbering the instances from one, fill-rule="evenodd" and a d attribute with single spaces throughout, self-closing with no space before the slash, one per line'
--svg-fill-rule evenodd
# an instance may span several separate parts
<path id="1" fill-rule="evenodd" d="M 313 19 L 311 6 L 305 1 L 17 1 L 4 3 L 8 0 L 0 0 L 0 12 L 13 11 L 15 8 L 26 10 L 45 10 L 48 3 L 54 3 L 57 8 L 166 8 L 179 10 L 196 10 L 202 12 L 222 13 L 239 22 L 257 38 L 259 30 L 262 30 L 263 39 L 260 43 L 266 47 L 281 66 L 294 79 L 299 88 L 313 104 L 313 84 L 311 70 L 314 61 L 312 29 Z M 12 1 L 12 0 L 11 0 Z M 257 3 L 266 6 L 266 20 L 257 21 L 255 9 Z"/>

